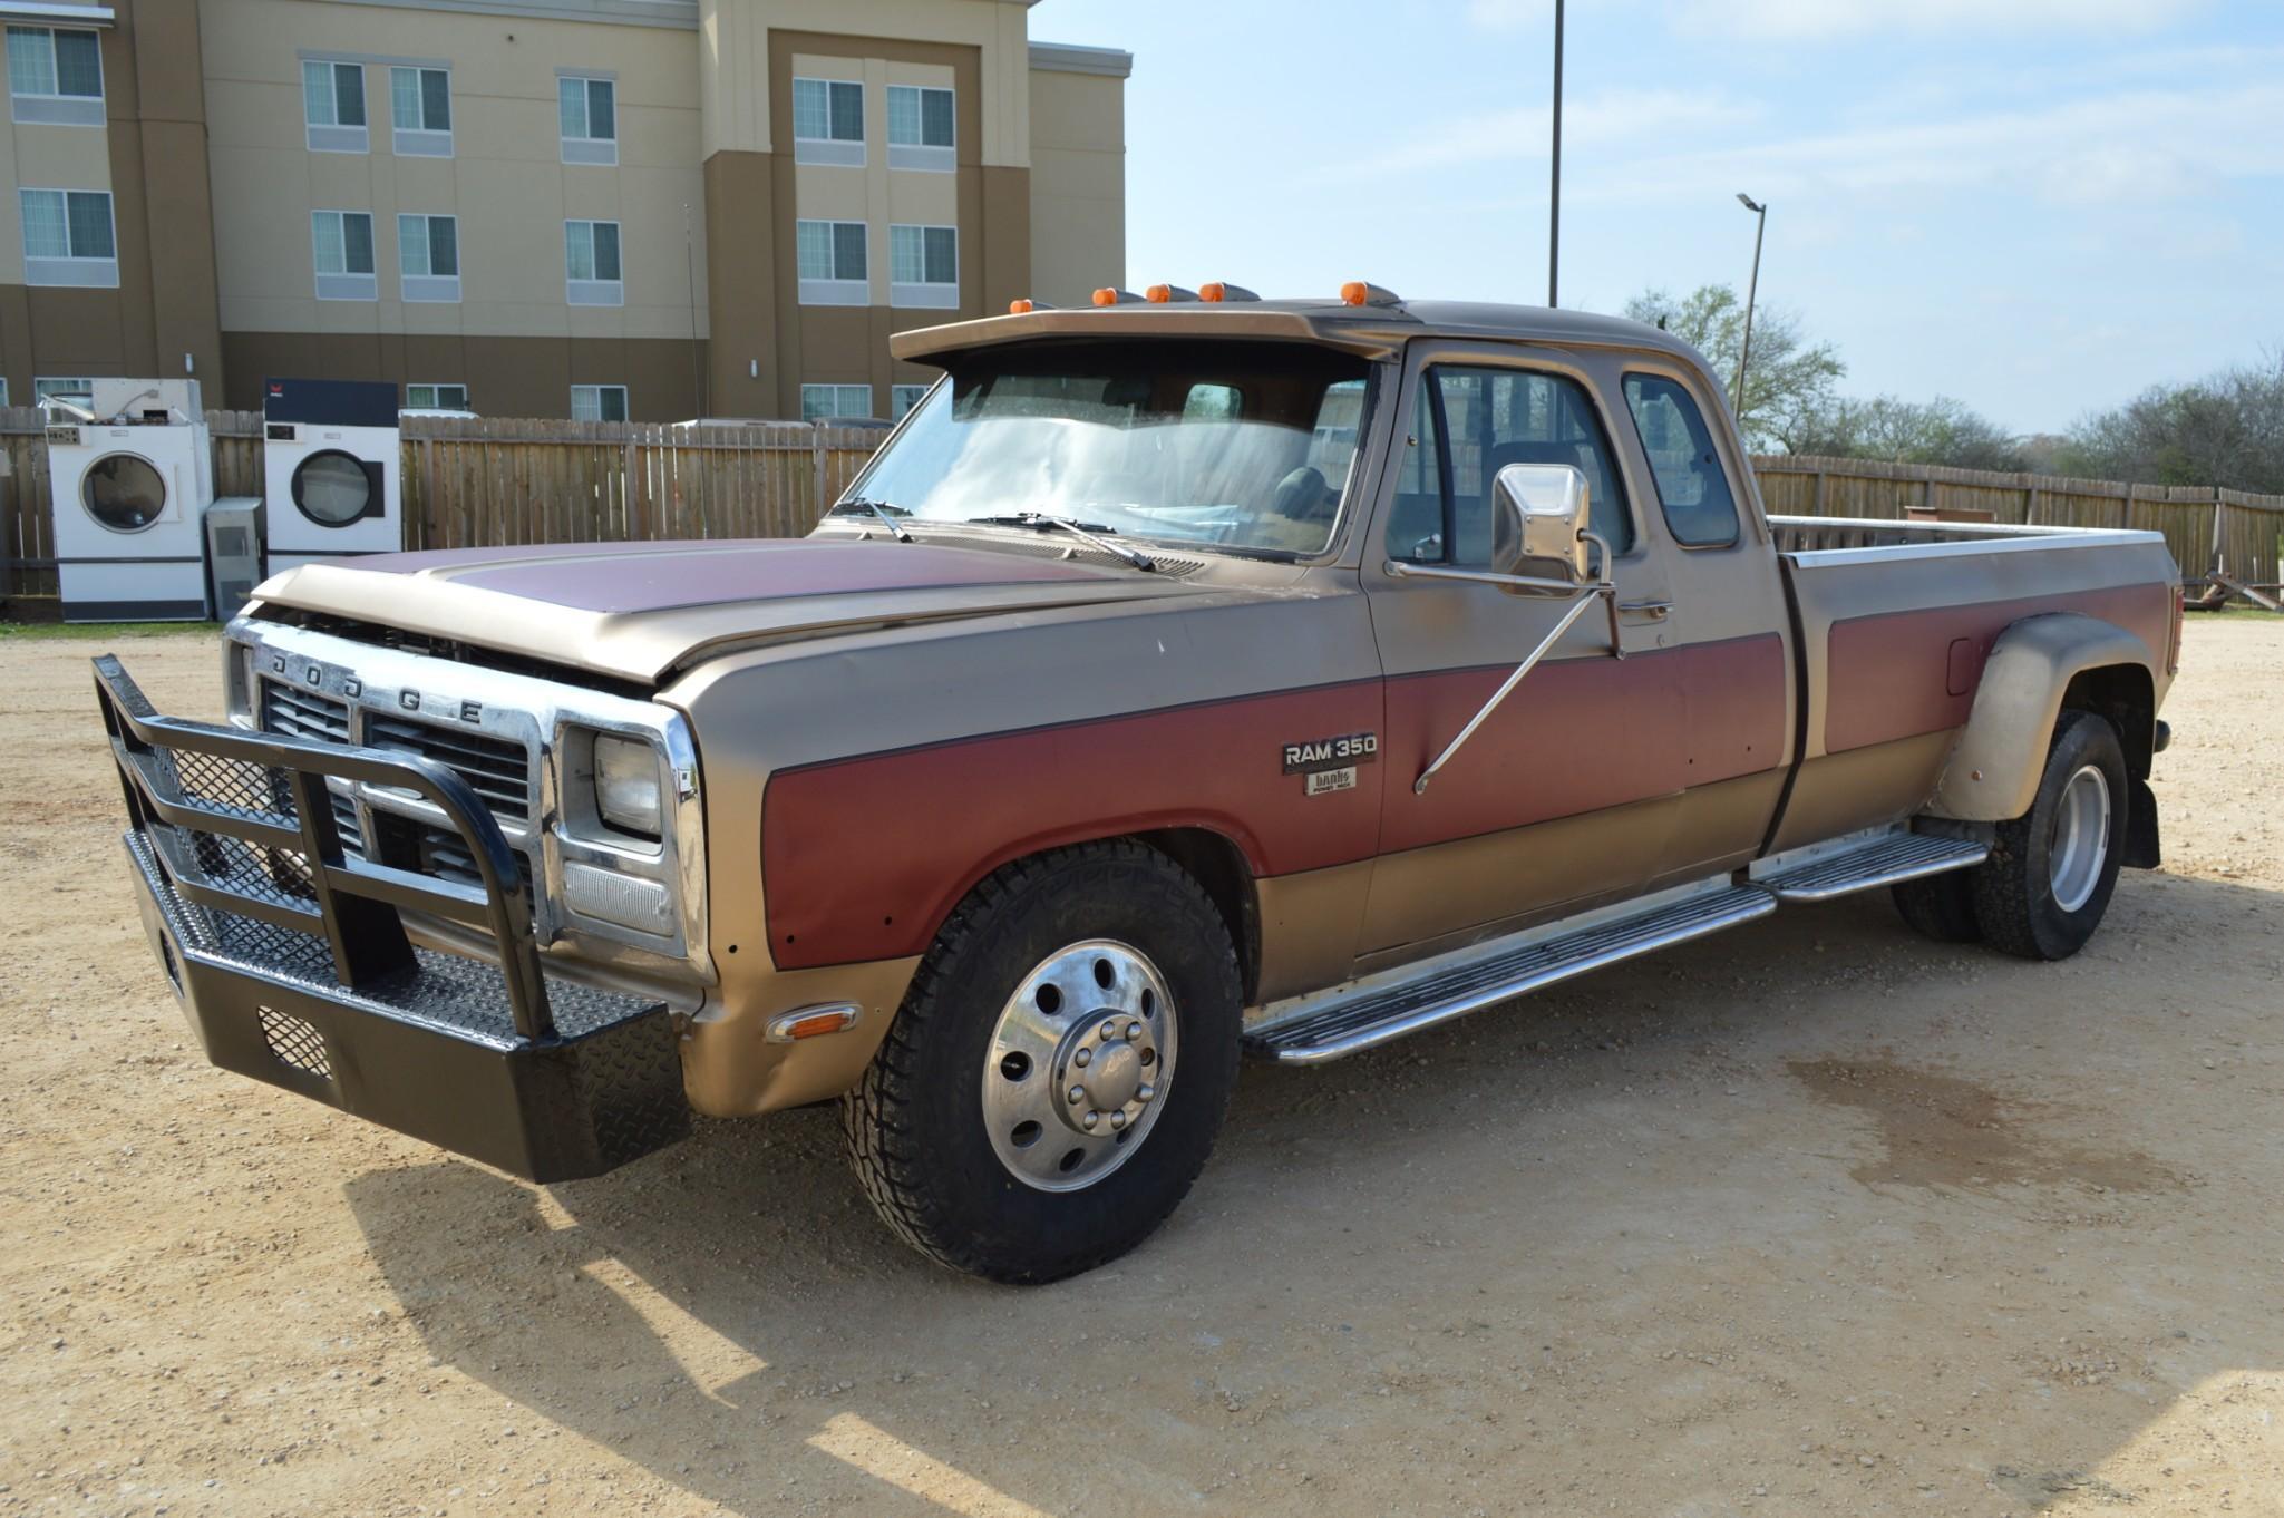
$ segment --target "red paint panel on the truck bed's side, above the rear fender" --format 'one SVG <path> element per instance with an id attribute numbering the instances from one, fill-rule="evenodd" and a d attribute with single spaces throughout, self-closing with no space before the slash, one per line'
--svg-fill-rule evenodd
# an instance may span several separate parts
<path id="1" fill-rule="evenodd" d="M 2163 657 L 2172 594 L 2163 584 L 2122 584 L 1834 621 L 1825 639 L 1825 751 L 1964 726 L 1992 644 L 2012 623 L 2042 612 L 2115 623 Z"/>

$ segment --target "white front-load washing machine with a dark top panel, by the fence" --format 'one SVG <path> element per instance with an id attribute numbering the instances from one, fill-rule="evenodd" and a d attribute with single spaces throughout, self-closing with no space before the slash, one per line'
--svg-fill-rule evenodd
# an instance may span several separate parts
<path id="1" fill-rule="evenodd" d="M 270 573 L 404 548 L 397 388 L 365 379 L 263 383 Z"/>

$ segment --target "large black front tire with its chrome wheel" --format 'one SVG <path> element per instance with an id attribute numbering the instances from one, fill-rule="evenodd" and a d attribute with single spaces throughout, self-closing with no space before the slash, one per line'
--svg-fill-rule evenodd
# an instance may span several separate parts
<path id="1" fill-rule="evenodd" d="M 856 1180 L 952 1269 L 1094 1269 L 1204 1169 L 1240 1016 L 1229 929 L 1167 856 L 1094 842 L 1005 865 L 952 911 L 841 1103 Z"/>

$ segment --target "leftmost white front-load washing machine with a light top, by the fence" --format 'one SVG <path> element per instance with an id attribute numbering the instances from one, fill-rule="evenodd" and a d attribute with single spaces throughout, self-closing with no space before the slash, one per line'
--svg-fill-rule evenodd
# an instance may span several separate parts
<path id="1" fill-rule="evenodd" d="M 196 379 L 98 379 L 48 402 L 64 621 L 206 621 L 215 441 Z"/>

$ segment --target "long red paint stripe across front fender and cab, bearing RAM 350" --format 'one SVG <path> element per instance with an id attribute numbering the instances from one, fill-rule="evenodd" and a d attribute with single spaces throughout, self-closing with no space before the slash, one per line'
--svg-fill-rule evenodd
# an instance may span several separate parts
<path id="1" fill-rule="evenodd" d="M 1359 680 L 783 772 L 763 799 L 772 956 L 790 970 L 918 954 L 984 874 L 1085 838 L 1201 826 L 1256 874 L 1290 874 L 1754 774 L 1782 756 L 1791 676 L 1784 641 L 1763 635 L 1539 667 L 1427 797 L 1412 797 L 1503 678 L 1393 680 L 1386 712 L 1380 680 Z M 1357 790 L 1309 797 L 1284 774 L 1284 744 L 1359 730 L 1382 733 L 1382 760 L 1361 767 Z"/>

